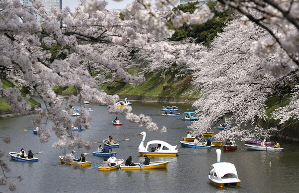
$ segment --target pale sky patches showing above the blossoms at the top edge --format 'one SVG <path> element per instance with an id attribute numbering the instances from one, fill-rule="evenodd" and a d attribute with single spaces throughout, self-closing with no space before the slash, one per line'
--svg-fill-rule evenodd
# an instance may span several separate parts
<path id="1" fill-rule="evenodd" d="M 106 0 L 108 5 L 106 8 L 108 9 L 123 9 L 127 6 L 127 4 L 131 3 L 132 0 L 123 0 L 123 1 L 114 1 L 114 0 Z M 79 5 L 79 0 L 62 0 L 62 8 L 68 6 L 71 11 L 75 11 L 75 7 Z"/>

